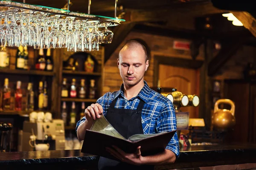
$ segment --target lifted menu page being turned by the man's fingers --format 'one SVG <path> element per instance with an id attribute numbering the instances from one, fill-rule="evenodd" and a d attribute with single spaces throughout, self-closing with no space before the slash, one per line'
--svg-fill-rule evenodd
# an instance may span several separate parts
<path id="1" fill-rule="evenodd" d="M 93 126 L 90 130 L 104 133 L 106 135 L 110 135 L 119 139 L 125 139 L 122 135 L 120 135 L 116 129 L 108 122 L 103 114 L 100 115 L 99 119 L 96 119 L 93 123 Z"/>

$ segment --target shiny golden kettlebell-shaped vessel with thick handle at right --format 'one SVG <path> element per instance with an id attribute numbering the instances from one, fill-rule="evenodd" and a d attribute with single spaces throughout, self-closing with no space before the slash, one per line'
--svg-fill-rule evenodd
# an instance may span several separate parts
<path id="1" fill-rule="evenodd" d="M 231 105 L 231 109 L 219 109 L 221 103 Z M 215 102 L 214 112 L 212 114 L 212 126 L 217 130 L 228 130 L 236 124 L 235 103 L 230 99 L 218 99 Z"/>

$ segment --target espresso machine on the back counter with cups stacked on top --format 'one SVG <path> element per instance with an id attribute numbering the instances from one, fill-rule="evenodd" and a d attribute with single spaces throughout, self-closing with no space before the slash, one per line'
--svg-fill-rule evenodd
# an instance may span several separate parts
<path id="1" fill-rule="evenodd" d="M 23 131 L 19 134 L 18 151 L 33 151 L 32 136 L 35 144 L 48 144 L 48 150 L 65 149 L 64 122 L 52 119 L 51 122 L 23 122 Z"/>

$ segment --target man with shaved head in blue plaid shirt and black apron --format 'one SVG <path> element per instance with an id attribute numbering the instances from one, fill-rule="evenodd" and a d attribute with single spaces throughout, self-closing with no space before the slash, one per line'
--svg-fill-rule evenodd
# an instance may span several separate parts
<path id="1" fill-rule="evenodd" d="M 172 102 L 151 90 L 143 79 L 148 69 L 145 47 L 135 40 L 127 42 L 119 52 L 117 65 L 123 80 L 120 90 L 104 94 L 96 104 L 85 109 L 85 117 L 76 126 L 78 139 L 84 139 L 85 130 L 90 129 L 94 120 L 100 118 L 102 113 L 126 139 L 138 133 L 176 130 Z M 179 142 L 175 133 L 162 153 L 151 156 L 141 156 L 140 147 L 132 154 L 125 153 L 115 146 L 106 150 L 120 162 L 100 157 L 99 170 L 153 169 L 155 164 L 173 163 L 176 160 L 176 156 L 179 156 Z"/>

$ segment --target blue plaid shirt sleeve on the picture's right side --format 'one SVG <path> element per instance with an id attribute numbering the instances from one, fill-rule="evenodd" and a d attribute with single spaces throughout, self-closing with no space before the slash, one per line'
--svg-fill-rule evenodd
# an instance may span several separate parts
<path id="1" fill-rule="evenodd" d="M 168 102 L 163 110 L 160 112 L 157 119 L 157 132 L 164 131 L 173 131 L 177 130 L 177 121 L 175 116 L 175 108 L 173 107 L 172 102 Z M 172 150 L 173 153 L 178 157 L 180 155 L 179 151 L 179 140 L 177 136 L 177 132 L 170 140 L 169 144 L 167 144 L 166 149 Z"/>

